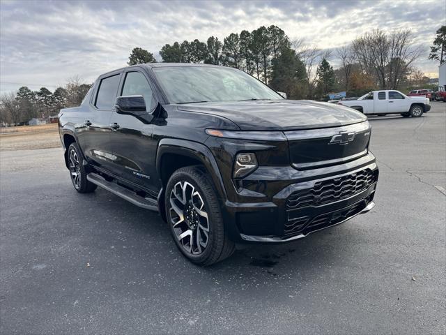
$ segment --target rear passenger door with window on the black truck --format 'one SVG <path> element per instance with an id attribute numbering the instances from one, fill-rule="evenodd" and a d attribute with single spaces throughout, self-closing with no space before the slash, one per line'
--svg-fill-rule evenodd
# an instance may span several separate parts
<path id="1" fill-rule="evenodd" d="M 89 102 L 89 113 L 85 114 L 82 127 L 77 130 L 77 140 L 86 160 L 107 170 L 114 160 L 109 124 L 120 80 L 121 72 L 109 73 L 98 79 Z"/>

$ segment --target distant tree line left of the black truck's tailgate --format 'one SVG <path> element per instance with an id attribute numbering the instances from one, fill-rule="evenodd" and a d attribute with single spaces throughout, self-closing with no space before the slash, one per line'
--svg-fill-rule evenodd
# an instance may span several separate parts
<path id="1" fill-rule="evenodd" d="M 66 107 L 80 105 L 91 84 L 84 84 L 79 77 L 72 77 L 64 87 L 54 92 L 46 87 L 32 91 L 23 86 L 17 92 L 0 96 L 0 124 L 25 124 L 30 119 L 47 119 Z"/>

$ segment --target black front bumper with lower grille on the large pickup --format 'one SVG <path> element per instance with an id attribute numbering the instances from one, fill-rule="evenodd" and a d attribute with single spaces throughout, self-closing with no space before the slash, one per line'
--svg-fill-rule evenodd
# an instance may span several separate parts
<path id="1" fill-rule="evenodd" d="M 231 238 L 238 242 L 281 243 L 339 225 L 374 207 L 377 180 L 378 167 L 373 161 L 330 177 L 315 175 L 311 180 L 296 181 L 278 190 L 271 201 L 226 201 Z"/>

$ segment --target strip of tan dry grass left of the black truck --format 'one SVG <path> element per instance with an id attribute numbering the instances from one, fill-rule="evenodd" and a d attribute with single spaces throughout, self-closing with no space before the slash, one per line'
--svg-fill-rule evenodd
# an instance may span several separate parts
<path id="1" fill-rule="evenodd" d="M 0 128 L 0 151 L 61 147 L 57 124 Z"/>

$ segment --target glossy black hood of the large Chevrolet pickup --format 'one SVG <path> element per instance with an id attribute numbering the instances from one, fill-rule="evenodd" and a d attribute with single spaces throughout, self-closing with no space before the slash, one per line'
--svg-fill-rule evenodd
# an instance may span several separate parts
<path id="1" fill-rule="evenodd" d="M 289 131 L 346 126 L 367 120 L 360 112 L 332 103 L 296 100 L 190 103 L 178 110 L 213 114 L 243 131 Z"/>

